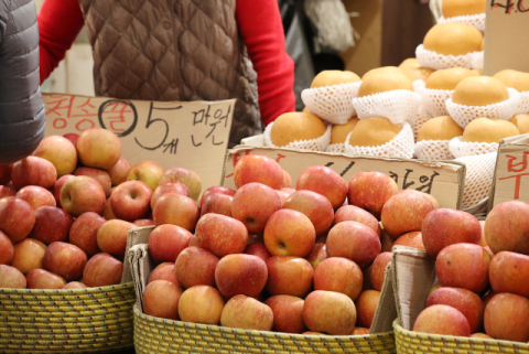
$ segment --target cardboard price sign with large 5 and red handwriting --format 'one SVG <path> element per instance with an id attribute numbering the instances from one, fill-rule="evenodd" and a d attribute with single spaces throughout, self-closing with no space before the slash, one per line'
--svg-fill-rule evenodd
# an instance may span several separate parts
<path id="1" fill-rule="evenodd" d="M 44 94 L 43 100 L 46 136 L 108 129 L 131 164 L 152 160 L 164 169 L 191 169 L 203 191 L 220 183 L 235 99 L 160 103 Z"/>

